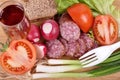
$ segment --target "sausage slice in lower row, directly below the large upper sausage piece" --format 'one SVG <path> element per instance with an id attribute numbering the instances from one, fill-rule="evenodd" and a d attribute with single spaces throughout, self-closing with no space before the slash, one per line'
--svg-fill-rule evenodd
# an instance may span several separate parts
<path id="1" fill-rule="evenodd" d="M 69 41 L 68 42 L 68 51 L 66 56 L 74 57 L 76 53 L 79 52 L 79 43 L 77 41 Z"/>

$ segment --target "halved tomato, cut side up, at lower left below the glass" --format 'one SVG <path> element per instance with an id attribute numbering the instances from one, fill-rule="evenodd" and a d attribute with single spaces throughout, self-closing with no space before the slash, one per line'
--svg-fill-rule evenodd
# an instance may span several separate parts
<path id="1" fill-rule="evenodd" d="M 35 47 L 27 40 L 14 40 L 1 55 L 1 66 L 11 74 L 23 74 L 36 62 Z"/>

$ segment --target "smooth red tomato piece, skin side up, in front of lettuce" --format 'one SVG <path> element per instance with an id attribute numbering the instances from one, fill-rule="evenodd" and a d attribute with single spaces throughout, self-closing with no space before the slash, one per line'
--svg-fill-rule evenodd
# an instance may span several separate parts
<path id="1" fill-rule="evenodd" d="M 74 4 L 67 9 L 67 12 L 83 32 L 88 32 L 92 27 L 93 15 L 86 4 Z"/>

